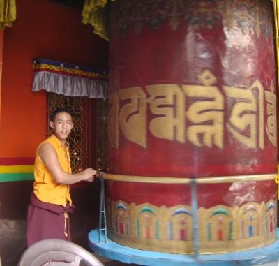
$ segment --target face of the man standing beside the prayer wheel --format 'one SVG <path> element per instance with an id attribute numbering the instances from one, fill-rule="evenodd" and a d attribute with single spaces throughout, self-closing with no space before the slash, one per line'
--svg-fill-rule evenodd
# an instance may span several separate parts
<path id="1" fill-rule="evenodd" d="M 59 112 L 56 114 L 54 122 L 50 121 L 50 127 L 53 129 L 54 135 L 61 141 L 67 139 L 73 126 L 73 119 L 67 112 Z"/>

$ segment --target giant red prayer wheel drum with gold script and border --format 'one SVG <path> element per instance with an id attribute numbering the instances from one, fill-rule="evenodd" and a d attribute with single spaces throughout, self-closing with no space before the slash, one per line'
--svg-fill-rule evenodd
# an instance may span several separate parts
<path id="1" fill-rule="evenodd" d="M 275 242 L 271 1 L 116 0 L 110 26 L 110 239 L 189 254 Z"/>

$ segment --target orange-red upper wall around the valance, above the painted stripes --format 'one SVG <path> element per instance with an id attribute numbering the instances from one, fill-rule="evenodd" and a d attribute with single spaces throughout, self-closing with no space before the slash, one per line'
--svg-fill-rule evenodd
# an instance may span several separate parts
<path id="1" fill-rule="evenodd" d="M 108 43 L 82 24 L 80 10 L 47 0 L 17 1 L 4 31 L 0 158 L 33 157 L 46 132 L 46 93 L 31 92 L 32 59 L 107 69 Z"/>

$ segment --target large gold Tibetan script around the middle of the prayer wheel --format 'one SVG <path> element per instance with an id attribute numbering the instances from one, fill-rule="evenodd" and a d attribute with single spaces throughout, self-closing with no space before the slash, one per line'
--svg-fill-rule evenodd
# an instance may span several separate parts
<path id="1" fill-rule="evenodd" d="M 146 86 L 146 91 L 132 87 L 110 94 L 108 134 L 112 147 L 119 148 L 121 130 L 124 137 L 144 148 L 149 133 L 155 138 L 223 149 L 226 126 L 242 145 L 264 149 L 264 100 L 266 134 L 276 145 L 273 82 L 271 91 L 264 91 L 258 80 L 248 88 L 223 86 L 222 91 L 214 85 L 217 80 L 209 70 L 199 75 L 199 81 L 201 85 L 154 84 Z"/>

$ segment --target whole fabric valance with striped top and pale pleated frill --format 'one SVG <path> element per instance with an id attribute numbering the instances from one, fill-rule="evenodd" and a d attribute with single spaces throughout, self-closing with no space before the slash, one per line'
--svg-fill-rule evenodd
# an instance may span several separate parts
<path id="1" fill-rule="evenodd" d="M 58 61 L 33 61 L 32 91 L 45 89 L 66 96 L 107 98 L 107 74 L 93 68 Z"/>

